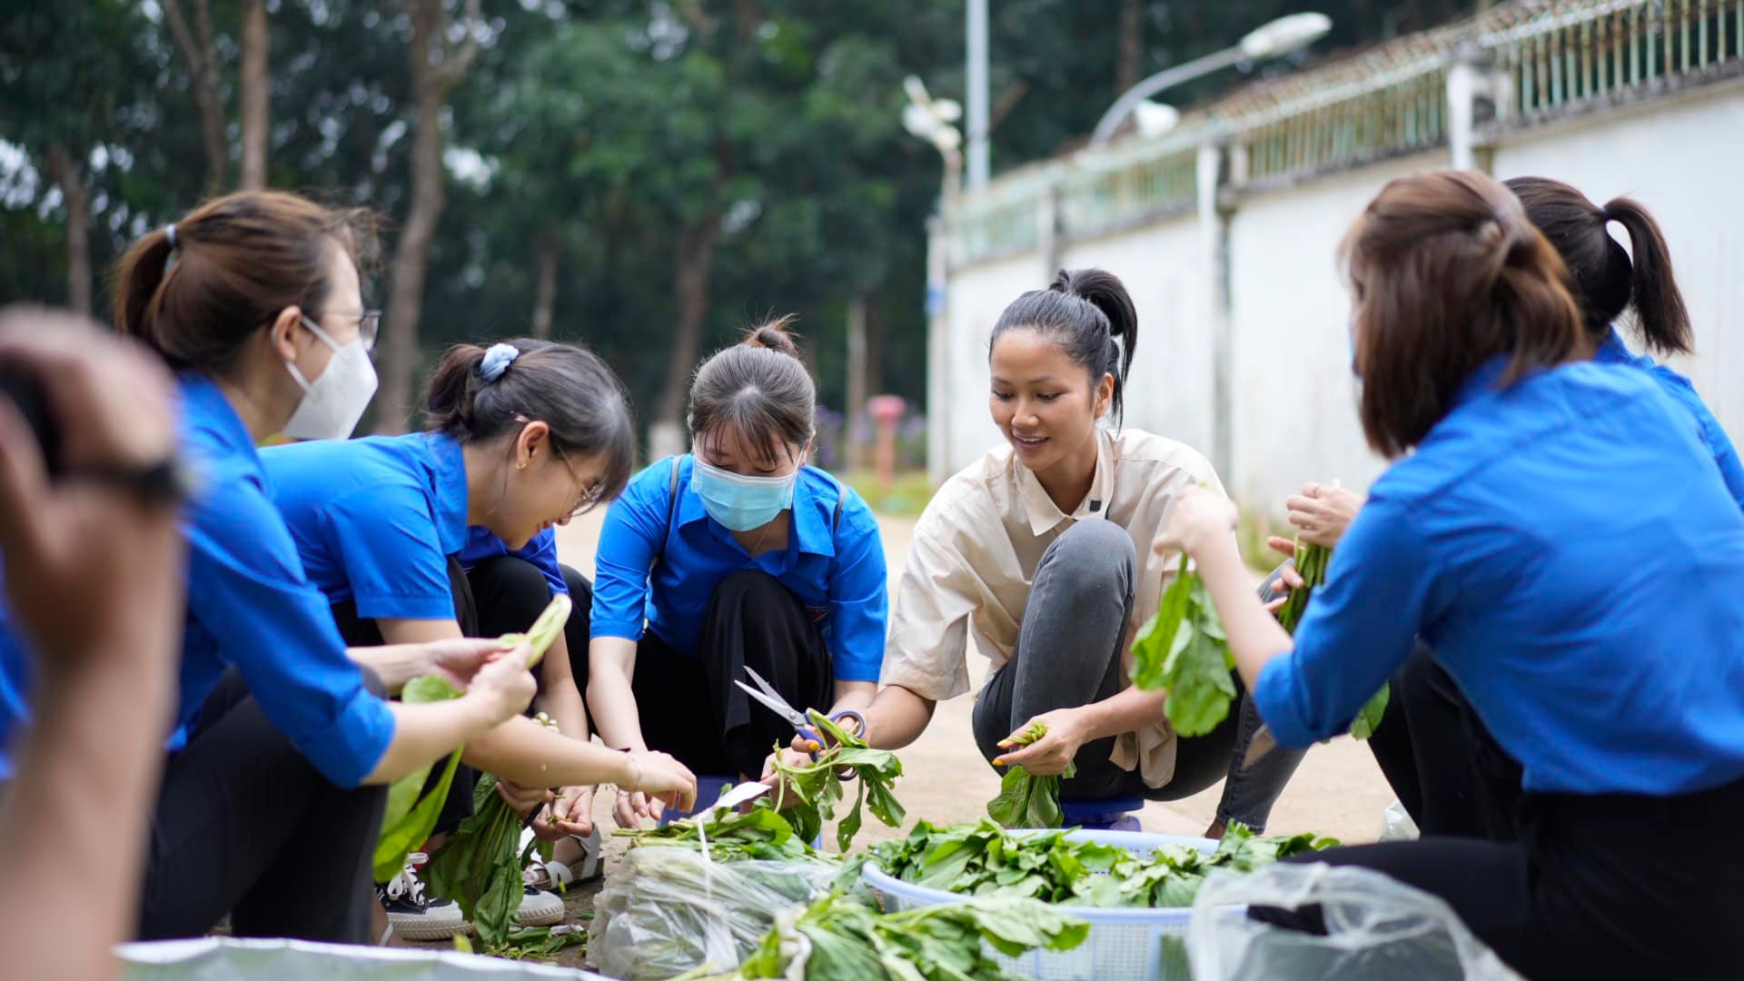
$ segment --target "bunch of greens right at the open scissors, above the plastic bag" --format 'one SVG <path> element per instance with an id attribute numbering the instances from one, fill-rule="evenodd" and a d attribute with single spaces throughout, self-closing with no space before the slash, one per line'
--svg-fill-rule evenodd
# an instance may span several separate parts
<path id="1" fill-rule="evenodd" d="M 774 806 L 794 826 L 800 841 L 814 841 L 823 833 L 823 822 L 835 819 L 835 805 L 842 799 L 844 768 L 851 768 L 858 780 L 853 780 L 855 803 L 835 827 L 837 847 L 846 854 L 853 845 L 855 834 L 860 833 L 862 805 L 889 827 L 902 827 L 907 812 L 889 789 L 896 777 L 902 777 L 902 761 L 896 754 L 870 749 L 865 740 L 849 735 L 814 709 L 806 716 L 825 737 L 827 745 L 818 758 L 790 765 L 781 758 L 780 745 L 774 754 L 774 773 L 781 777 L 776 784 Z M 799 798 L 797 803 L 788 801 L 788 794 Z"/>

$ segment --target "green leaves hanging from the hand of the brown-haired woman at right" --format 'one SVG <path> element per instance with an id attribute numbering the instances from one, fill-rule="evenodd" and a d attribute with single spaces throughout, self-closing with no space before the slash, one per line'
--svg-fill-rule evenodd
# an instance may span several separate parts
<path id="1" fill-rule="evenodd" d="M 1217 609 L 1198 573 L 1181 555 L 1175 580 L 1132 642 L 1132 683 L 1146 691 L 1168 689 L 1163 714 L 1182 737 L 1205 735 L 1230 714 L 1235 700 L 1235 658 Z"/>

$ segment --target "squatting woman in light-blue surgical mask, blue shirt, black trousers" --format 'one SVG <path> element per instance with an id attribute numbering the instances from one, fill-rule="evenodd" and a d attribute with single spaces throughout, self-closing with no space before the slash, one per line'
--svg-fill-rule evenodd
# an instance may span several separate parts
<path id="1" fill-rule="evenodd" d="M 794 731 L 734 684 L 746 670 L 800 710 L 858 709 L 877 686 L 877 520 L 806 466 L 816 394 L 785 325 L 703 361 L 691 384 L 692 454 L 638 473 L 605 515 L 588 703 L 607 745 L 757 777 Z M 616 813 L 630 826 L 659 812 L 630 794 Z"/>

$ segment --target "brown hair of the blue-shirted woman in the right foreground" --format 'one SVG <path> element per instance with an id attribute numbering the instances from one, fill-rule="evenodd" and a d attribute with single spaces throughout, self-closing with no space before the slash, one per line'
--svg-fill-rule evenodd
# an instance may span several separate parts
<path id="1" fill-rule="evenodd" d="M 1423 442 L 1491 358 L 1507 358 L 1509 386 L 1591 353 L 1563 260 L 1488 176 L 1390 182 L 1338 255 L 1355 300 L 1362 431 L 1381 456 Z"/>

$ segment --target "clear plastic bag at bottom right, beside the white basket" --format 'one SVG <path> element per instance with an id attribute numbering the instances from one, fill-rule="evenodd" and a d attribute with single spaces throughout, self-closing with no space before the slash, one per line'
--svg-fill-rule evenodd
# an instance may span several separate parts
<path id="1" fill-rule="evenodd" d="M 1273 927 L 1247 906 L 1318 902 L 1327 936 Z M 1435 895 L 1373 869 L 1278 862 L 1212 873 L 1193 901 L 1195 981 L 1519 981 Z"/>

